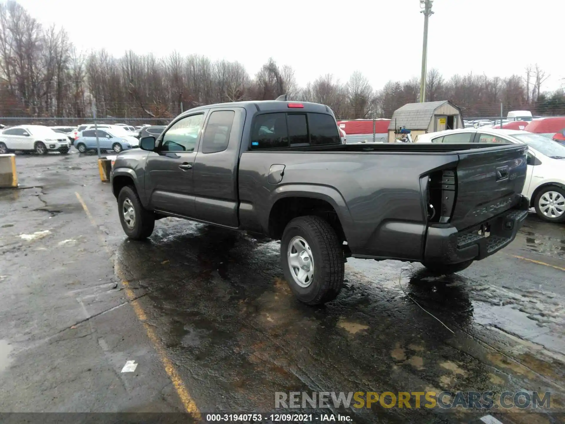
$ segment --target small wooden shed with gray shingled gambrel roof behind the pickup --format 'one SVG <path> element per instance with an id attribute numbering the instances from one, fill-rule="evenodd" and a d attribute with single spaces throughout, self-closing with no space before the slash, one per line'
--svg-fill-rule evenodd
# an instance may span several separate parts
<path id="1" fill-rule="evenodd" d="M 389 143 L 401 138 L 402 135 L 397 134 L 397 131 L 402 127 L 410 129 L 412 140 L 428 132 L 464 128 L 461 110 L 447 100 L 408 103 L 394 111 L 389 124 Z"/>

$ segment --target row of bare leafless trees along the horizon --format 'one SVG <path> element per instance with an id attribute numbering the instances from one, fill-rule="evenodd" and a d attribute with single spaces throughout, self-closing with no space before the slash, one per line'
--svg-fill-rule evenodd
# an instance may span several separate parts
<path id="1" fill-rule="evenodd" d="M 545 92 L 549 75 L 537 65 L 509 77 L 428 71 L 426 100 L 449 100 L 464 117 L 499 116 L 526 109 L 565 115 L 565 92 Z M 0 116 L 89 118 L 95 107 L 106 118 L 170 119 L 199 105 L 244 100 L 290 99 L 324 103 L 338 119 L 390 118 L 418 102 L 420 81 L 371 86 L 362 72 L 347 81 L 331 73 L 299 86 L 292 66 L 268 59 L 250 75 L 239 62 L 202 55 L 167 57 L 132 51 L 116 58 L 106 50 L 76 50 L 63 28 L 44 28 L 16 2 L 0 4 Z"/>

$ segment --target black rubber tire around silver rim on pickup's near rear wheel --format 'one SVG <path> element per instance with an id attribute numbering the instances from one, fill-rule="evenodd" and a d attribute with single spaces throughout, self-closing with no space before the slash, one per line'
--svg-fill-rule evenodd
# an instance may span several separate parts
<path id="1" fill-rule="evenodd" d="M 289 265 L 288 249 L 294 237 L 306 241 L 314 261 L 314 275 L 307 287 L 294 280 L 294 271 Z M 326 220 L 306 216 L 290 221 L 282 233 L 280 255 L 285 279 L 299 301 L 321 305 L 339 295 L 344 283 L 344 253 L 336 232 Z"/>

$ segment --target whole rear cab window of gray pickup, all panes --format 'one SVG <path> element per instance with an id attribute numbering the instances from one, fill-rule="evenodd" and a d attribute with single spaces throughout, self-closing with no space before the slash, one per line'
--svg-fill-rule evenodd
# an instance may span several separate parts
<path id="1" fill-rule="evenodd" d="M 251 150 L 341 144 L 336 120 L 323 113 L 267 113 L 255 116 Z"/>

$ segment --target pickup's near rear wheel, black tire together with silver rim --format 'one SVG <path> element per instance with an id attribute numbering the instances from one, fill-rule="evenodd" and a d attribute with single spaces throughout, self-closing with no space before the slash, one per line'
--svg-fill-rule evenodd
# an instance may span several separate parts
<path id="1" fill-rule="evenodd" d="M 281 266 L 299 301 L 321 305 L 334 300 L 344 283 L 344 254 L 332 226 L 315 216 L 294 218 L 281 239 Z"/>

